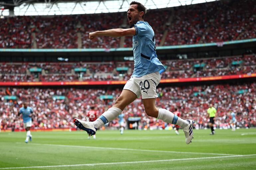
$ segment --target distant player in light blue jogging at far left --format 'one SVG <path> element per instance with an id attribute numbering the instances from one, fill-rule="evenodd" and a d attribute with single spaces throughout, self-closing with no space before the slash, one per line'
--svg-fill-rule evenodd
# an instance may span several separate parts
<path id="1" fill-rule="evenodd" d="M 18 116 L 22 114 L 23 118 L 23 124 L 27 132 L 26 140 L 25 142 L 28 143 L 32 141 L 32 135 L 30 133 L 30 127 L 32 126 L 32 116 L 33 116 L 33 109 L 31 107 L 28 107 L 27 103 L 23 104 L 23 107 L 20 108 Z"/>

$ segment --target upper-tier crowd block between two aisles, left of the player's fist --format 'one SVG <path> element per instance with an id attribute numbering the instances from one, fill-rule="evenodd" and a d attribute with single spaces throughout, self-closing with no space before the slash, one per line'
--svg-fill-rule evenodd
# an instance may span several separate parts
<path id="1" fill-rule="evenodd" d="M 37 48 L 77 48 L 78 16 L 35 17 Z"/>

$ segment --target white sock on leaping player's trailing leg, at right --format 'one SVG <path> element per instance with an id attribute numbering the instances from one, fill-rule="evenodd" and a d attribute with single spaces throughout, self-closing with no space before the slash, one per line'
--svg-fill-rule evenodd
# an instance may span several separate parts
<path id="1" fill-rule="evenodd" d="M 174 125 L 179 125 L 182 129 L 189 125 L 189 122 L 183 120 L 182 118 L 176 116 L 172 112 L 166 109 L 158 109 L 158 119 L 161 119 L 167 123 L 171 123 Z"/>

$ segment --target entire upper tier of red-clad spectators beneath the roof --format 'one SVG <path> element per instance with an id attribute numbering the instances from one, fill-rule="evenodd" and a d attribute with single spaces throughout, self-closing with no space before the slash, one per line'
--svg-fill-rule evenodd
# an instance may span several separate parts
<path id="1" fill-rule="evenodd" d="M 223 42 L 256 37 L 255 11 L 255 0 L 214 1 L 149 10 L 145 20 L 154 29 L 158 46 Z M 95 30 L 126 28 L 125 12 L 5 17 L 0 25 L 0 48 L 132 46 L 130 38 L 97 37 L 91 42 L 87 36 Z"/>

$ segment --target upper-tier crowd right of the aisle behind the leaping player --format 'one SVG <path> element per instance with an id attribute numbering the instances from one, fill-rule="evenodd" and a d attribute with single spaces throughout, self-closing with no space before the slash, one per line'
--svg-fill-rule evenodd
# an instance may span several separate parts
<path id="1" fill-rule="evenodd" d="M 164 45 L 255 38 L 256 1 L 215 1 L 174 8 Z"/>

